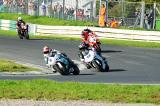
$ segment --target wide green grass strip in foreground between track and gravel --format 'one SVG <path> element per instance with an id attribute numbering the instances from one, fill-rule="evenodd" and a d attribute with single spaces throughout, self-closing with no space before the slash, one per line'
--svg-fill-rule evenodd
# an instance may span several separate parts
<path id="1" fill-rule="evenodd" d="M 1 80 L 0 99 L 96 100 L 160 104 L 160 86 L 86 84 L 51 80 Z"/>

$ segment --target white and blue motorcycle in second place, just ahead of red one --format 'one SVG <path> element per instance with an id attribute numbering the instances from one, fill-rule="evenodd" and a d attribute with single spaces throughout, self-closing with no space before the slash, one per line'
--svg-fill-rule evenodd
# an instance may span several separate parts
<path id="1" fill-rule="evenodd" d="M 95 68 L 99 72 L 109 71 L 109 65 L 107 60 L 98 54 L 94 48 L 84 50 L 84 63 L 88 69 Z"/>

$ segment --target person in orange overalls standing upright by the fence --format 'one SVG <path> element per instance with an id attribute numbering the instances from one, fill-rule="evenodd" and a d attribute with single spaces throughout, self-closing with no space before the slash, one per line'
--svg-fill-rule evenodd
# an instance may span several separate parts
<path id="1" fill-rule="evenodd" d="M 100 14 L 99 14 L 99 26 L 104 27 L 105 26 L 105 16 L 106 16 L 106 7 L 104 4 L 102 4 L 102 7 L 100 8 Z"/>

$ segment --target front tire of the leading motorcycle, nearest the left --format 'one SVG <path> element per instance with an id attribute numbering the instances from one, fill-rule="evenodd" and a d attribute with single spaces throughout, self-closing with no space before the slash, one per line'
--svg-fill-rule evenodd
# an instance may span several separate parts
<path id="1" fill-rule="evenodd" d="M 56 66 L 57 66 L 58 72 L 61 75 L 69 75 L 70 74 L 69 70 L 66 69 L 66 66 L 63 63 L 57 62 Z"/>

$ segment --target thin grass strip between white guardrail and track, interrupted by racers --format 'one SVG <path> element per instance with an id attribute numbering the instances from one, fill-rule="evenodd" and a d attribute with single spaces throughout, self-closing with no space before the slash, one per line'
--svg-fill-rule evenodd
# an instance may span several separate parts
<path id="1" fill-rule="evenodd" d="M 0 30 L 0 36 L 12 36 L 15 37 L 14 31 Z M 18 36 L 17 36 L 18 37 Z M 48 35 L 48 36 L 30 36 L 31 39 L 61 39 L 61 40 L 77 40 L 80 41 L 80 37 L 66 37 L 64 35 Z M 130 46 L 130 47 L 145 47 L 145 48 L 160 48 L 160 42 L 147 42 L 147 41 L 133 41 L 133 40 L 118 40 L 118 39 L 100 39 L 102 44 L 116 45 L 116 46 Z"/>

